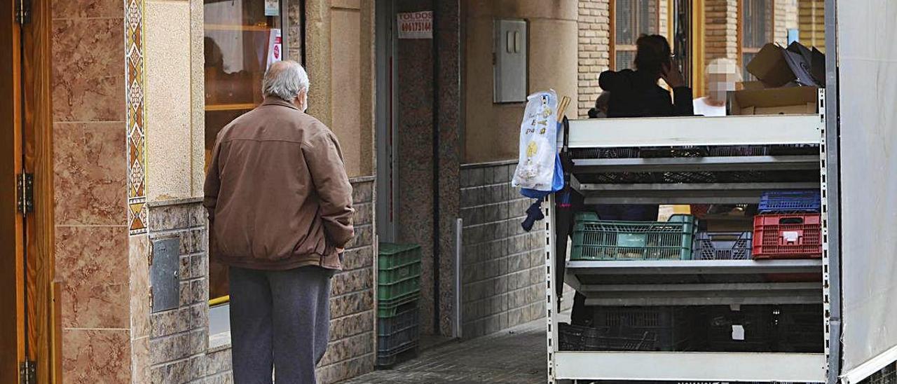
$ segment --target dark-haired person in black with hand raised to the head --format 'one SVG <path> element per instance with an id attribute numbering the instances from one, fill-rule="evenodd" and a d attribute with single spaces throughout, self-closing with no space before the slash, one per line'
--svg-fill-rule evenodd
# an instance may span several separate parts
<path id="1" fill-rule="evenodd" d="M 692 89 L 673 65 L 670 45 L 660 35 L 641 36 L 635 42 L 635 71 L 605 71 L 598 77 L 601 89 L 610 92 L 608 118 L 692 116 Z M 658 85 L 664 79 L 673 89 Z"/>

